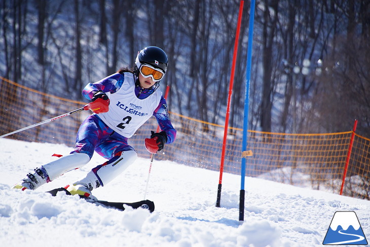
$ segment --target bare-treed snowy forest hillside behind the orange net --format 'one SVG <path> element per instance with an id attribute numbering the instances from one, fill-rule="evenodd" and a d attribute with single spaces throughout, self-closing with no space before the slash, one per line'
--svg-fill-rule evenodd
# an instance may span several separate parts
<path id="1" fill-rule="evenodd" d="M 249 5 L 233 127 L 243 122 Z M 161 88 L 171 86 L 170 111 L 224 124 L 239 1 L 3 0 L 0 8 L 0 76 L 82 100 L 88 82 L 132 66 L 155 45 L 169 57 Z M 348 131 L 357 118 L 357 132 L 368 136 L 369 34 L 369 0 L 257 0 L 249 128 Z"/>

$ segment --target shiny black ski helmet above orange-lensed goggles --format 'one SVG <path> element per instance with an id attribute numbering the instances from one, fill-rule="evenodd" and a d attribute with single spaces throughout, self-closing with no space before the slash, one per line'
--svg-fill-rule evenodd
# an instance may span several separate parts
<path id="1" fill-rule="evenodd" d="M 155 68 L 159 68 L 165 74 L 167 71 L 168 58 L 167 54 L 159 47 L 148 46 L 139 51 L 135 59 L 135 74 L 138 76 L 141 64 L 146 63 Z"/>

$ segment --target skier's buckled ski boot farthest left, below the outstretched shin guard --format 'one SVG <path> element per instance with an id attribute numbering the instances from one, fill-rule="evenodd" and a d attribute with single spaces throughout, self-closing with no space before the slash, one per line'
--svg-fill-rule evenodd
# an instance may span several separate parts
<path id="1" fill-rule="evenodd" d="M 50 181 L 48 173 L 44 167 L 41 166 L 41 168 L 34 169 L 34 173 L 28 173 L 26 177 L 14 185 L 12 189 L 35 190 Z"/>

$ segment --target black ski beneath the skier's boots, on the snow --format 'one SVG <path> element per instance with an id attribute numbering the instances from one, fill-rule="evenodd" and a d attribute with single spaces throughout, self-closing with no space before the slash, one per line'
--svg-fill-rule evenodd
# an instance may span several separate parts
<path id="1" fill-rule="evenodd" d="M 67 191 L 64 188 L 57 188 L 51 191 L 47 191 L 47 193 L 50 193 L 52 196 L 56 196 L 56 194 L 59 191 L 64 191 L 67 195 L 71 195 L 69 191 Z M 150 210 L 151 213 L 154 211 L 154 202 L 150 200 L 143 200 L 143 201 L 137 201 L 137 202 L 111 202 L 111 201 L 94 200 L 94 199 L 91 199 L 91 198 L 88 198 L 82 195 L 80 195 L 80 198 L 83 198 L 86 201 L 90 203 L 94 203 L 96 205 L 101 205 L 101 206 L 108 207 L 108 208 L 115 208 L 121 211 L 125 210 L 125 205 L 131 206 L 134 209 L 139 208 L 139 207 L 148 209 Z"/>

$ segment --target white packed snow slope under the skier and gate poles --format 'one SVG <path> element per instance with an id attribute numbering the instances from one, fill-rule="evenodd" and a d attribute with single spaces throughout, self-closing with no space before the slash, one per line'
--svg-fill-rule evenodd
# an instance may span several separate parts
<path id="1" fill-rule="evenodd" d="M 36 191 L 10 189 L 33 168 L 56 159 L 52 154 L 66 155 L 70 150 L 64 145 L 0 139 L 1 246 L 322 246 L 335 211 L 343 210 L 355 211 L 370 237 L 367 200 L 247 177 L 245 218 L 240 223 L 240 176 L 224 173 L 217 208 L 218 172 L 168 161 L 153 162 L 146 193 L 156 206 L 152 214 L 44 193 L 76 181 L 104 162 L 98 155 Z M 93 194 L 100 200 L 142 200 L 149 165 L 148 154 Z"/>

